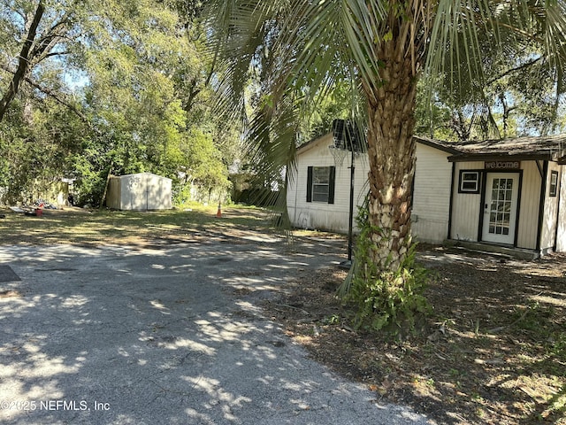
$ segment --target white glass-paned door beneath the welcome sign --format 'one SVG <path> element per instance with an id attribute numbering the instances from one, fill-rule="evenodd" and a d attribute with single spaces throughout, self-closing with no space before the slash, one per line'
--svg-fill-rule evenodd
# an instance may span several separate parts
<path id="1" fill-rule="evenodd" d="M 515 243 L 518 173 L 488 173 L 482 240 Z"/>

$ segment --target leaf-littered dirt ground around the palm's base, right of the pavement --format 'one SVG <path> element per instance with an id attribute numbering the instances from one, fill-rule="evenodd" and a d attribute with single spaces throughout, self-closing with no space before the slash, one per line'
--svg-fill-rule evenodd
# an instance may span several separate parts
<path id="1" fill-rule="evenodd" d="M 534 261 L 424 247 L 428 330 L 403 342 L 351 327 L 329 267 L 265 309 L 310 355 L 439 423 L 566 424 L 566 256 Z"/>

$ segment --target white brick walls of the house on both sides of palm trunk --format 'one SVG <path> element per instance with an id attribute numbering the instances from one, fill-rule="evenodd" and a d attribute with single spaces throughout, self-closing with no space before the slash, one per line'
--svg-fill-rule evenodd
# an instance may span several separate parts
<path id="1" fill-rule="evenodd" d="M 333 135 L 328 134 L 302 148 L 297 156 L 296 170 L 291 174 L 287 189 L 287 211 L 297 228 L 319 228 L 335 232 L 348 231 L 350 157 L 342 166 L 336 166 L 334 204 L 306 202 L 307 169 L 309 166 L 334 166 L 328 146 Z M 370 166 L 362 154 L 355 160 L 354 214 L 368 193 Z M 418 240 L 440 243 L 447 237 L 448 205 L 450 202 L 450 178 L 452 166 L 447 153 L 417 143 L 417 169 L 413 197 L 413 234 Z M 356 228 L 356 222 L 354 222 Z"/>

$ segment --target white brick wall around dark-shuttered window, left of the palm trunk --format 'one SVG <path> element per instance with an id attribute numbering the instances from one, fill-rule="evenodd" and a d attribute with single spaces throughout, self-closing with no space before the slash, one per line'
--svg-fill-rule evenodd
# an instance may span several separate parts
<path id="1" fill-rule="evenodd" d="M 333 144 L 329 133 L 305 146 L 297 156 L 296 170 L 290 176 L 287 188 L 287 212 L 296 228 L 317 228 L 338 233 L 348 232 L 350 197 L 350 154 L 344 158 L 342 166 L 336 166 L 334 185 L 334 204 L 307 202 L 307 170 L 309 166 L 335 166 L 334 158 L 328 149 Z M 354 217 L 357 206 L 362 205 L 368 192 L 367 176 L 369 163 L 367 155 L 355 159 L 354 174 Z M 356 220 L 354 220 L 356 228 Z"/>

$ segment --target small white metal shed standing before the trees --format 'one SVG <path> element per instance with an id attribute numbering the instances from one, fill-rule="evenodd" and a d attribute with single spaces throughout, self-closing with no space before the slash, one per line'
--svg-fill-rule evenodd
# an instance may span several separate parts
<path id="1" fill-rule="evenodd" d="M 106 206 L 134 211 L 171 209 L 171 183 L 171 179 L 151 173 L 111 176 Z"/>

